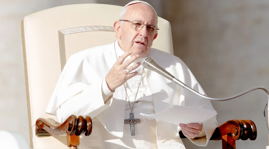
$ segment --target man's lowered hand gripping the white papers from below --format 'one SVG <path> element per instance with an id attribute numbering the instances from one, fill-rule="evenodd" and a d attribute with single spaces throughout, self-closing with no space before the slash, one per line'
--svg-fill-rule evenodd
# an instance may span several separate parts
<path id="1" fill-rule="evenodd" d="M 202 129 L 203 124 L 202 123 L 189 123 L 189 124 L 179 124 L 179 127 L 181 128 L 182 133 L 187 138 L 195 138 L 198 136 Z"/>

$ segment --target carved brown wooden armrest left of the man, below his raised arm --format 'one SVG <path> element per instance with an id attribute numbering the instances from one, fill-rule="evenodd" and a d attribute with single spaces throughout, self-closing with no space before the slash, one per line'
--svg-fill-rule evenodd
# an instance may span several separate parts
<path id="1" fill-rule="evenodd" d="M 54 119 L 39 118 L 36 120 L 36 135 L 37 136 L 60 136 L 67 135 L 67 146 L 75 149 L 80 144 L 79 136 L 84 134 L 89 136 L 92 131 L 92 121 L 89 116 L 71 115 L 65 122 L 59 124 Z"/>

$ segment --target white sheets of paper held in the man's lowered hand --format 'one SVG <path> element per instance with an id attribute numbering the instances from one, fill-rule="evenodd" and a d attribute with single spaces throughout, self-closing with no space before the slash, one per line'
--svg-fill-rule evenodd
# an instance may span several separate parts
<path id="1" fill-rule="evenodd" d="M 181 105 L 173 105 L 171 108 L 168 108 L 167 110 L 157 114 L 147 115 L 140 113 L 140 115 L 152 117 L 154 119 L 162 120 L 176 125 L 180 123 L 188 124 L 204 122 L 216 114 L 216 111 Z"/>

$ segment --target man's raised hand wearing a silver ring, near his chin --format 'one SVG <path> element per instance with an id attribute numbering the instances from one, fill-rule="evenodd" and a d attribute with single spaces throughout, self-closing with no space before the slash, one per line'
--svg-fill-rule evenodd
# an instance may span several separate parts
<path id="1" fill-rule="evenodd" d="M 121 55 L 116 61 L 116 63 L 114 63 L 108 74 L 106 75 L 106 84 L 111 92 L 114 92 L 115 89 L 117 89 L 117 87 L 122 86 L 127 80 L 137 75 L 138 73 L 137 71 L 127 74 L 126 67 L 128 67 L 139 57 L 139 55 L 134 55 L 124 62 L 124 60 L 131 54 L 132 52 L 129 51 Z M 137 69 L 140 66 L 140 64 L 141 63 L 138 62 L 135 65 L 128 67 L 128 69 L 130 71 L 133 71 Z"/>

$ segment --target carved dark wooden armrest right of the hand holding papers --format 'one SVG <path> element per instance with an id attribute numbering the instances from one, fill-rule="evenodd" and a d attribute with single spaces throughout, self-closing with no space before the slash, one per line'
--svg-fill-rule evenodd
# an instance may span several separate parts
<path id="1" fill-rule="evenodd" d="M 181 138 L 186 138 L 180 131 Z M 251 120 L 232 119 L 218 126 L 210 140 L 222 140 L 223 149 L 235 149 L 236 140 L 255 140 L 257 138 L 257 128 Z"/>

